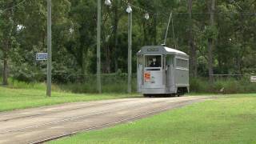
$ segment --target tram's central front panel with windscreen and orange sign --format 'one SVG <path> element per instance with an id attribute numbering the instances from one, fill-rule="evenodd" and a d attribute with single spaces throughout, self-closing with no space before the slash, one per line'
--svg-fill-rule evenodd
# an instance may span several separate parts
<path id="1" fill-rule="evenodd" d="M 144 88 L 162 88 L 162 55 L 144 55 Z"/>

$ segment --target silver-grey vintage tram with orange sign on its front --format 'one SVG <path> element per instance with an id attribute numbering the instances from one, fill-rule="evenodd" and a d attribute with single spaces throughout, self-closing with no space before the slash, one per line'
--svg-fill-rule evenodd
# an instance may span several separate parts
<path id="1" fill-rule="evenodd" d="M 189 56 L 166 46 L 144 46 L 137 54 L 137 88 L 145 96 L 189 92 Z"/>

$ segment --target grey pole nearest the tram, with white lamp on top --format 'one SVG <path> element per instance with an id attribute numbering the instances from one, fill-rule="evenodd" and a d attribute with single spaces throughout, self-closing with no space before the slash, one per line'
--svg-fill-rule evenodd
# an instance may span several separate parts
<path id="1" fill-rule="evenodd" d="M 128 6 L 126 12 L 128 13 L 128 93 L 131 93 L 132 9 L 130 6 Z"/>

